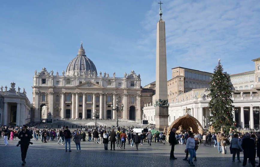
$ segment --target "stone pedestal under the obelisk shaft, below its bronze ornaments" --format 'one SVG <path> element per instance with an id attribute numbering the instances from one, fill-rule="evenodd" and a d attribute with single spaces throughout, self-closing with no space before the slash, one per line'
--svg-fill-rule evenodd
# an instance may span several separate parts
<path id="1" fill-rule="evenodd" d="M 169 106 L 157 106 L 155 107 L 155 129 L 158 131 L 163 131 L 164 127 L 168 125 L 168 107 Z"/>

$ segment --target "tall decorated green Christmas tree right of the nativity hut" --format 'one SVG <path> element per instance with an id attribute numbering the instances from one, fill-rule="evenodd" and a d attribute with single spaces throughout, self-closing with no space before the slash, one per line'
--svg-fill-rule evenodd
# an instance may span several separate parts
<path id="1" fill-rule="evenodd" d="M 225 132 L 229 132 L 229 128 L 234 128 L 232 110 L 235 106 L 232 104 L 232 85 L 230 84 L 230 76 L 223 72 L 223 67 L 218 60 L 218 65 L 214 68 L 212 81 L 210 85 L 210 93 L 208 97 L 211 98 L 208 103 L 210 116 L 208 117 L 210 125 L 214 127 L 215 131 L 220 131 L 221 128 Z"/>

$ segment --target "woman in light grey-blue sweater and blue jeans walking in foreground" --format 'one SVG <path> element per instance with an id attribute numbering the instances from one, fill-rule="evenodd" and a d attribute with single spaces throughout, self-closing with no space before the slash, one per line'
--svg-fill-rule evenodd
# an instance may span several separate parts
<path id="1" fill-rule="evenodd" d="M 185 149 L 185 153 L 189 151 L 190 153 L 190 159 L 188 159 L 188 163 L 190 164 L 190 166 L 195 166 L 193 164 L 193 158 L 196 157 L 196 151 L 195 151 L 195 140 L 194 140 L 194 134 L 191 133 L 190 137 L 187 139 L 186 142 L 186 149 Z"/>

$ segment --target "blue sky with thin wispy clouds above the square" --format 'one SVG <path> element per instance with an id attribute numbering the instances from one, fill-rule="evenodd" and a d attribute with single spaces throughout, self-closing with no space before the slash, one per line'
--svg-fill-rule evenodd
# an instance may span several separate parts
<path id="1" fill-rule="evenodd" d="M 34 71 L 66 71 L 83 43 L 97 72 L 134 70 L 155 81 L 158 0 L 0 1 L 0 86 L 16 83 L 32 102 Z M 181 66 L 229 74 L 254 70 L 260 57 L 260 1 L 163 0 L 167 78 Z"/>

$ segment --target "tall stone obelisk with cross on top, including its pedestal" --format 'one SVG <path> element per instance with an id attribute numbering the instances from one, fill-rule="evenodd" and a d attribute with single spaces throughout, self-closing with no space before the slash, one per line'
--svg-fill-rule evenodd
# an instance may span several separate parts
<path id="1" fill-rule="evenodd" d="M 167 99 L 167 64 L 166 64 L 166 40 L 165 40 L 165 22 L 161 19 L 161 1 L 160 20 L 157 23 L 156 37 L 156 87 L 155 87 L 155 128 L 164 130 L 168 127 L 168 99 Z"/>

